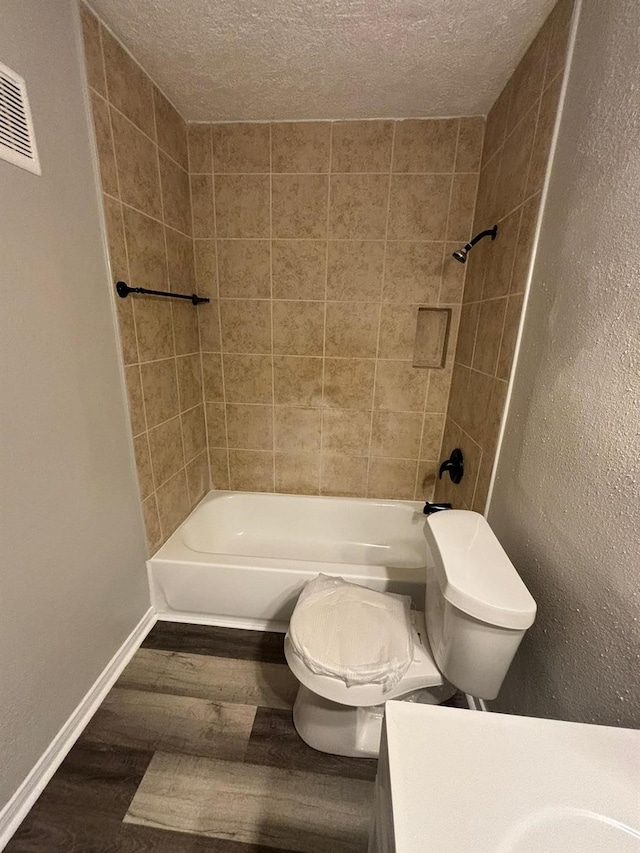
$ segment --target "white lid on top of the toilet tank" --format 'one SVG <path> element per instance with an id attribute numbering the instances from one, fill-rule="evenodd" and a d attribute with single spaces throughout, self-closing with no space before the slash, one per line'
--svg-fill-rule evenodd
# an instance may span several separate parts
<path id="1" fill-rule="evenodd" d="M 486 519 L 453 509 L 434 513 L 425 536 L 444 598 L 470 616 L 501 628 L 528 628 L 536 603 Z"/>

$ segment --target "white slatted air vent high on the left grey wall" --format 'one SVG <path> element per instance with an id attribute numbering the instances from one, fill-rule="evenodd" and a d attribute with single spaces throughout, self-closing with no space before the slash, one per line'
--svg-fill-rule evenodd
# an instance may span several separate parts
<path id="1" fill-rule="evenodd" d="M 41 174 L 25 82 L 1 62 L 0 160 Z"/>

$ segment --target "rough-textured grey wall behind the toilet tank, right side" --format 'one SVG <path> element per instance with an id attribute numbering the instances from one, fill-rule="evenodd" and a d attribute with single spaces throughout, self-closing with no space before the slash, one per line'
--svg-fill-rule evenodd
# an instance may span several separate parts
<path id="1" fill-rule="evenodd" d="M 635 0 L 582 4 L 488 516 L 538 602 L 497 708 L 629 727 L 640 726 L 639 28 Z"/>

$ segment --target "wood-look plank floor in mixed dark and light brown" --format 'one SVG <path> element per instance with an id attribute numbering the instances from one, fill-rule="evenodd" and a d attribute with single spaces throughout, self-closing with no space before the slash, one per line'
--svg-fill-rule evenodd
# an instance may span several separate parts
<path id="1" fill-rule="evenodd" d="M 300 740 L 282 646 L 159 622 L 7 853 L 364 853 L 377 762 Z"/>

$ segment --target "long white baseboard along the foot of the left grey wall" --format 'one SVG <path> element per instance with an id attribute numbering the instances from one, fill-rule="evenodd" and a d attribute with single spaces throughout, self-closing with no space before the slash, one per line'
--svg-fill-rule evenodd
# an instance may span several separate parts
<path id="1" fill-rule="evenodd" d="M 27 778 L 0 811 L 0 850 L 4 850 L 9 843 L 27 812 L 62 764 L 65 756 L 80 737 L 83 729 L 98 710 L 102 700 L 111 690 L 120 673 L 136 653 L 155 622 L 156 613 L 153 607 L 150 607 L 51 741 Z"/>

